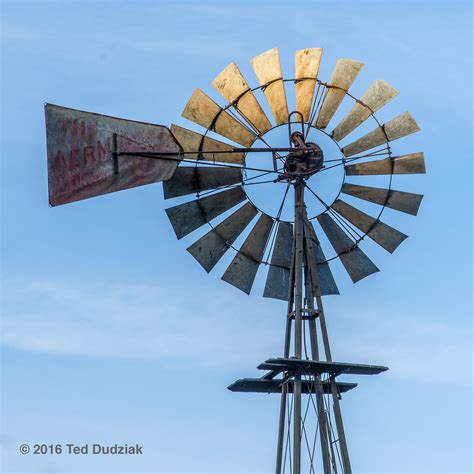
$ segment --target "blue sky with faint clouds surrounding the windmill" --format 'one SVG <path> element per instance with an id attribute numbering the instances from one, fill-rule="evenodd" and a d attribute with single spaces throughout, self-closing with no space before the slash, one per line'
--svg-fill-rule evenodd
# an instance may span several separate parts
<path id="1" fill-rule="evenodd" d="M 231 61 L 323 47 L 383 78 L 422 132 L 417 218 L 380 273 L 327 298 L 335 359 L 388 365 L 342 409 L 355 473 L 472 472 L 471 2 L 2 2 L 2 472 L 269 473 L 278 399 L 232 394 L 281 354 L 285 304 L 206 275 L 160 184 L 51 209 L 43 103 L 178 123 Z M 191 128 L 197 129 L 194 126 Z M 261 277 L 260 283 L 261 283 Z M 21 443 L 140 443 L 137 458 L 23 456 Z"/>

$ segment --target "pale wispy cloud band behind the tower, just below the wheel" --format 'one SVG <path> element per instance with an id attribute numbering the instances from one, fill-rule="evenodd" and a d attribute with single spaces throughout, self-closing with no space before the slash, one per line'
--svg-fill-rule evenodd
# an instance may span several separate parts
<path id="1" fill-rule="evenodd" d="M 233 289 L 42 281 L 5 294 L 3 343 L 16 349 L 247 369 L 281 350 L 281 303 Z M 469 327 L 351 312 L 334 329 L 339 360 L 386 364 L 399 379 L 470 382 Z"/>

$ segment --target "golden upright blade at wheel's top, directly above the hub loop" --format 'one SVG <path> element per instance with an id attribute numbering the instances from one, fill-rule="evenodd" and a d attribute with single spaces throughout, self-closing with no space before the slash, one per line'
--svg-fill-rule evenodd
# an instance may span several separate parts
<path id="1" fill-rule="evenodd" d="M 322 48 L 301 49 L 295 53 L 296 110 L 303 114 L 305 122 L 309 121 L 322 54 Z M 301 80 L 303 78 L 314 78 L 314 80 Z M 300 117 L 297 116 L 297 120 L 299 119 Z"/>

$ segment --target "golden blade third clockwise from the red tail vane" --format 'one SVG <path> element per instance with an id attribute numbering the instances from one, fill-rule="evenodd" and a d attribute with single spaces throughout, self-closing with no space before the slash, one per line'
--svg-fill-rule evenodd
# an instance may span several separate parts
<path id="1" fill-rule="evenodd" d="M 235 63 L 229 64 L 212 85 L 228 102 L 238 99 L 235 108 L 261 134 L 271 128 L 272 124 Z"/>

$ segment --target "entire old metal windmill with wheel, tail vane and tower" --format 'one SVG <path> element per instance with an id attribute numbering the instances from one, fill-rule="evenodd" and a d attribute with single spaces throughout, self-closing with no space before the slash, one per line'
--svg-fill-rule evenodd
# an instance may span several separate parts
<path id="1" fill-rule="evenodd" d="M 392 177 L 425 172 L 423 153 L 392 150 L 419 130 L 413 117 L 375 116 L 397 90 L 375 80 L 356 98 L 349 90 L 363 64 L 339 59 L 323 82 L 321 56 L 321 48 L 297 51 L 286 79 L 278 50 L 266 51 L 251 61 L 253 88 L 231 63 L 212 82 L 225 105 L 196 89 L 184 108 L 202 133 L 45 106 L 52 206 L 163 181 L 164 198 L 179 201 L 166 209 L 177 238 L 205 229 L 187 250 L 207 272 L 232 254 L 222 280 L 249 294 L 266 272 L 263 296 L 287 302 L 283 353 L 258 366 L 260 377 L 228 387 L 280 395 L 277 474 L 352 472 L 340 399 L 357 384 L 338 377 L 387 368 L 333 360 L 322 299 L 339 294 L 330 262 L 354 283 L 378 272 L 361 244 L 368 237 L 392 253 L 407 236 L 381 220 L 384 210 L 416 215 L 422 199 L 394 190 Z M 281 134 L 272 143 L 275 130 L 285 143 Z M 334 171 L 342 180 L 328 199 L 322 184 Z M 387 185 L 365 184 L 374 177 Z M 257 202 L 259 186 L 272 188 L 273 213 Z"/>

